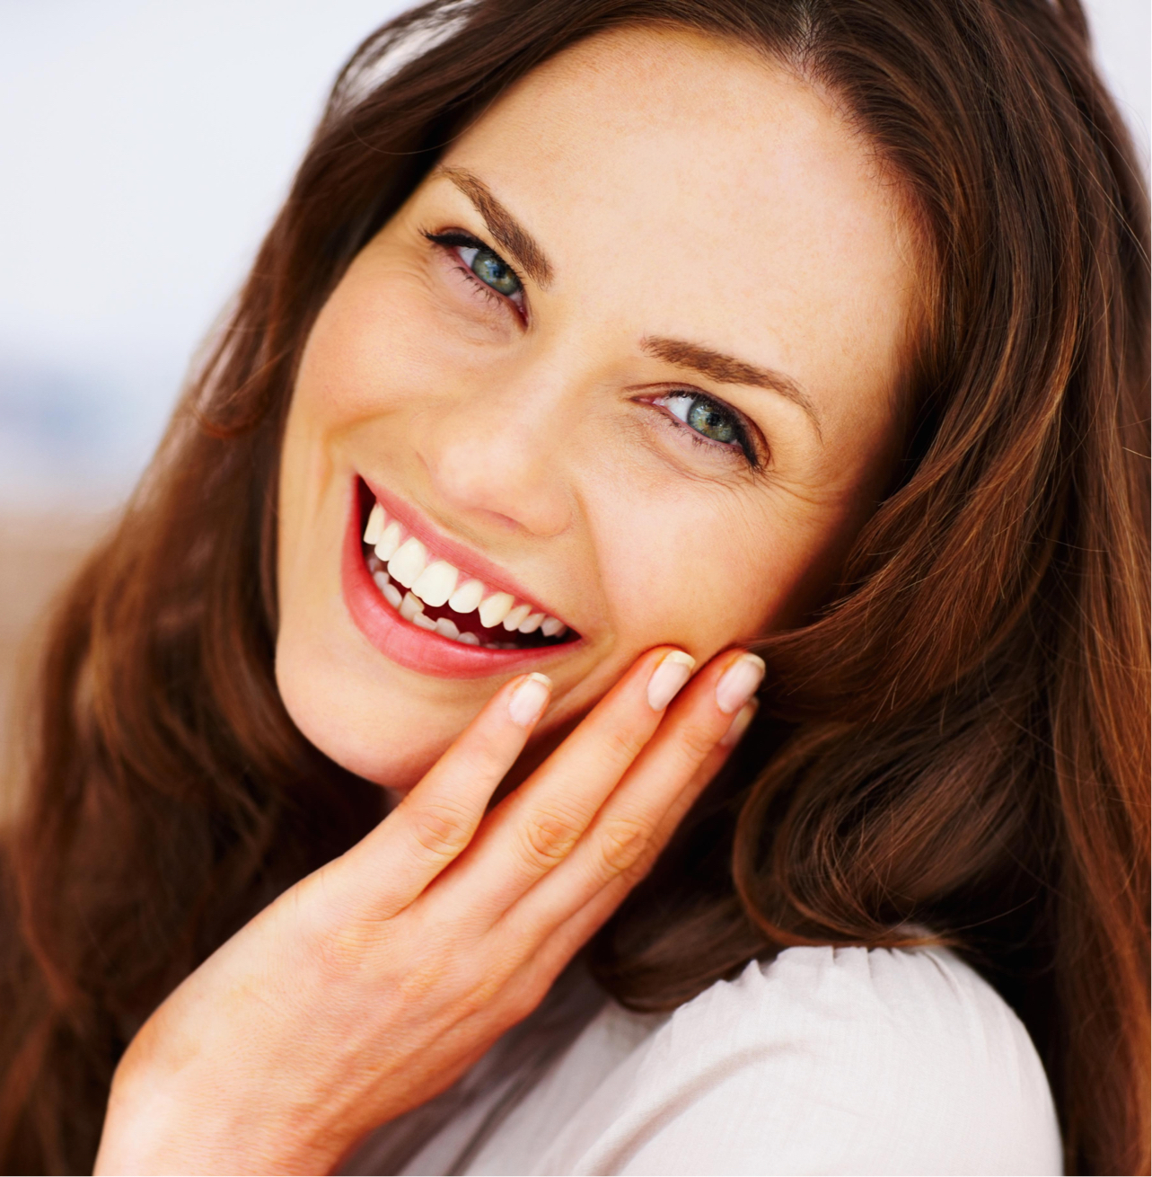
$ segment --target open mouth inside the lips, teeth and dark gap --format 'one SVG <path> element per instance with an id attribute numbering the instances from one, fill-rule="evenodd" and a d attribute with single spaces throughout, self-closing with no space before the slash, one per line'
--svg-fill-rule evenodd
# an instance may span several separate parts
<path id="1" fill-rule="evenodd" d="M 389 517 L 358 479 L 360 553 L 386 606 L 408 624 L 464 646 L 531 651 L 579 640 L 535 601 L 506 592 L 442 558 Z"/>

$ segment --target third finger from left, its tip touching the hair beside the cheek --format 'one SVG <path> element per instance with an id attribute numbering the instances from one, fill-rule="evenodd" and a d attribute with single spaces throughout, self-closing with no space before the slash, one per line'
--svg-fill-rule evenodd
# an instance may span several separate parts
<path id="1" fill-rule="evenodd" d="M 751 722 L 754 707 L 745 707 L 763 676 L 764 663 L 743 652 L 697 676 L 579 845 L 517 904 L 533 936 L 547 936 L 605 887 L 627 891 L 647 872 Z"/>

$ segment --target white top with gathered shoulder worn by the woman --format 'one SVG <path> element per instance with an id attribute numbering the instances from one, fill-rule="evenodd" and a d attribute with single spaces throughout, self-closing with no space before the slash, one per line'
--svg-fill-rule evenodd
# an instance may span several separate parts
<path id="1" fill-rule="evenodd" d="M 938 949 L 788 949 L 671 1015 L 610 1002 L 512 1086 L 488 1076 L 402 1172 L 1063 1171 L 1026 1030 Z M 353 1171 L 379 1172 L 373 1152 Z"/>

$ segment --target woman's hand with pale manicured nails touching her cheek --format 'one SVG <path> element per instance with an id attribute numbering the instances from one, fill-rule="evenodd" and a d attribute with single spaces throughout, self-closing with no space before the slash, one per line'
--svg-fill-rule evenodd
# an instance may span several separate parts
<path id="1" fill-rule="evenodd" d="M 326 1172 L 447 1088 L 535 1008 L 746 726 L 763 663 L 727 651 L 670 706 L 691 669 L 648 651 L 487 811 L 550 684 L 501 687 L 379 826 L 153 1013 L 96 1172 Z"/>

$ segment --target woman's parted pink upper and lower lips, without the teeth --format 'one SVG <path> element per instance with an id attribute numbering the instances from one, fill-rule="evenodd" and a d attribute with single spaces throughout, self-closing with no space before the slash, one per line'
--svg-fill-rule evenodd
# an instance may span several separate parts
<path id="1" fill-rule="evenodd" d="M 459 544 L 442 540 L 424 520 L 414 518 L 405 504 L 397 503 L 391 494 L 380 493 L 379 488 L 367 479 L 365 484 L 389 516 L 398 518 L 438 556 L 442 554 L 452 563 L 459 559 L 465 567 L 475 570 L 486 585 L 532 603 L 527 593 L 517 588 L 515 583 L 490 561 L 478 558 Z M 561 651 L 570 653 L 584 640 L 577 638 L 575 641 L 540 646 L 534 650 L 485 650 L 480 646 L 461 645 L 451 638 L 442 638 L 439 633 L 421 630 L 418 625 L 406 621 L 381 598 L 364 561 L 360 550 L 360 503 L 355 481 L 348 494 L 348 524 L 345 528 L 340 559 L 340 586 L 345 606 L 355 627 L 380 653 L 407 670 L 437 678 L 487 678 L 492 674 L 534 670 L 541 663 L 557 658 Z"/>

